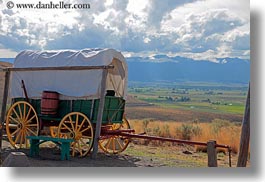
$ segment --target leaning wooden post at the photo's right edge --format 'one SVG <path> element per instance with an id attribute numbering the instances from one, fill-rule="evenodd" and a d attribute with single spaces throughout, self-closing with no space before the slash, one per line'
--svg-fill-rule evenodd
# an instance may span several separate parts
<path id="1" fill-rule="evenodd" d="M 249 150 L 250 138 L 250 85 L 248 88 L 248 96 L 245 106 L 245 114 L 242 120 L 240 147 L 237 160 L 237 167 L 246 167 Z"/>

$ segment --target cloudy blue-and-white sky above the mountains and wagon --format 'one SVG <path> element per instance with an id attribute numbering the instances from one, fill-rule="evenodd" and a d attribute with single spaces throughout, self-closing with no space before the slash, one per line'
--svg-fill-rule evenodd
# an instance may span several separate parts
<path id="1" fill-rule="evenodd" d="M 49 10 L 8 9 L 8 1 L 0 0 L 0 57 L 25 49 L 114 48 L 125 57 L 250 59 L 249 0 L 77 0 L 64 2 L 90 9 Z"/>

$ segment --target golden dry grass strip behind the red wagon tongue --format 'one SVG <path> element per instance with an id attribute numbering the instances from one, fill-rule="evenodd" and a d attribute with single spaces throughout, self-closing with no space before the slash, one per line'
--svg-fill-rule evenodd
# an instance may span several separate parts
<path id="1" fill-rule="evenodd" d="M 238 152 L 241 127 L 227 120 L 215 119 L 210 123 L 199 122 L 172 122 L 154 120 L 130 120 L 130 124 L 136 133 L 146 132 L 147 135 L 169 137 L 176 139 L 207 142 L 216 140 L 218 144 L 232 147 L 234 153 Z M 160 141 L 135 140 L 138 144 L 176 145 L 162 143 Z M 205 147 L 195 146 L 196 151 L 206 151 Z M 224 151 L 224 149 L 219 149 Z"/>

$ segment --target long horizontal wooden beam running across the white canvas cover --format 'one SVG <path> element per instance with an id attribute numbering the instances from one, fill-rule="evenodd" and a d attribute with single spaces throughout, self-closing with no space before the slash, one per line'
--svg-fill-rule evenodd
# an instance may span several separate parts
<path id="1" fill-rule="evenodd" d="M 96 70 L 113 69 L 113 65 L 108 66 L 63 66 L 63 67 L 28 67 L 28 68 L 4 68 L 3 71 L 75 71 L 75 70 Z"/>

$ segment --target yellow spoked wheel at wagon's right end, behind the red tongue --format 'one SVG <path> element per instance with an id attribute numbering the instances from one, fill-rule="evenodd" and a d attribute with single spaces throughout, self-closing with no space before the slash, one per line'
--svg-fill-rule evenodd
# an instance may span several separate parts
<path id="1" fill-rule="evenodd" d="M 128 120 L 124 117 L 122 123 L 114 123 L 111 125 L 110 130 L 123 130 L 123 129 L 131 129 Z M 107 139 L 99 140 L 99 147 L 106 153 L 109 154 L 118 154 L 123 152 L 129 145 L 130 139 L 114 135 L 110 136 Z"/>

